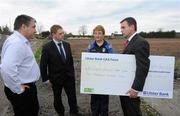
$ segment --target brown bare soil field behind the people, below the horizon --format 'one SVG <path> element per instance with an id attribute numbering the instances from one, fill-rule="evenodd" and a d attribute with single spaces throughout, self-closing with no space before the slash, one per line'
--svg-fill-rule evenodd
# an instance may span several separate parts
<path id="1" fill-rule="evenodd" d="M 179 39 L 147 39 L 150 43 L 151 55 L 175 56 L 180 58 L 180 38 Z M 74 58 L 80 58 L 81 52 L 85 51 L 88 44 L 92 40 L 68 40 L 71 43 Z M 121 53 L 123 50 L 123 41 L 113 39 L 110 40 L 115 53 Z"/>

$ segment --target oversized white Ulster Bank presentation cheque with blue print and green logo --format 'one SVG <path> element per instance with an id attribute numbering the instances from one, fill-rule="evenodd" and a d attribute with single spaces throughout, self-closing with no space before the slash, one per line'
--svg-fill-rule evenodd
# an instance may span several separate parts
<path id="1" fill-rule="evenodd" d="M 138 96 L 172 98 L 175 57 L 150 56 L 150 61 L 143 92 Z M 135 69 L 134 55 L 82 53 L 80 92 L 127 96 Z"/>

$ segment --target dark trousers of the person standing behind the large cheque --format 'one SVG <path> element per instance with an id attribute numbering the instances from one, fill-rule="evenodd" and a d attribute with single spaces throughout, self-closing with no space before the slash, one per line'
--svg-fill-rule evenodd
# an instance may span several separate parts
<path id="1" fill-rule="evenodd" d="M 108 95 L 91 95 L 92 116 L 108 116 L 108 106 Z"/>

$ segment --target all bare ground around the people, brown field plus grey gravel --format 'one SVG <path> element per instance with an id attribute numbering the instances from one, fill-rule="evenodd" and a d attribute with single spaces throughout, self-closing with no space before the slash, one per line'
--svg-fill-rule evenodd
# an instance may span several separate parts
<path id="1" fill-rule="evenodd" d="M 71 48 L 74 57 L 74 66 L 76 69 L 76 93 L 78 105 L 82 111 L 86 113 L 86 116 L 90 116 L 90 96 L 80 94 L 80 57 L 81 52 L 85 51 L 90 40 L 67 40 L 71 43 Z M 173 55 L 176 58 L 180 58 L 180 39 L 150 39 L 148 40 L 151 45 L 151 55 Z M 116 53 L 122 52 L 122 42 L 123 40 L 110 40 L 113 44 L 113 48 Z M 33 50 L 35 51 L 41 44 L 40 41 L 32 42 Z M 179 116 L 180 114 L 180 81 L 175 81 L 174 87 L 174 98 L 172 100 L 167 99 L 151 99 L 147 98 L 147 101 L 153 108 L 155 108 L 162 116 Z M 39 116 L 57 116 L 53 107 L 53 93 L 51 87 L 42 84 L 41 79 L 37 82 L 38 87 L 38 98 L 40 103 Z M 62 93 L 63 103 L 66 109 L 66 115 L 68 116 L 68 103 L 65 93 Z M 110 96 L 109 103 L 109 115 L 110 116 L 123 116 L 119 97 Z M 166 106 L 166 107 L 165 107 Z M 12 116 L 12 107 L 7 101 L 2 80 L 0 79 L 0 116 Z M 150 116 L 146 112 L 143 112 L 144 116 Z"/>

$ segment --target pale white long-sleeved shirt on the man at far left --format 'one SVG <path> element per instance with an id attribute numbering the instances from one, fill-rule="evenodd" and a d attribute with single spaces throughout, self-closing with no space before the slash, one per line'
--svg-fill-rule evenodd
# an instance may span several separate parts
<path id="1" fill-rule="evenodd" d="M 1 53 L 1 76 L 12 92 L 22 93 L 21 84 L 39 80 L 40 70 L 29 41 L 18 31 L 4 42 Z"/>

